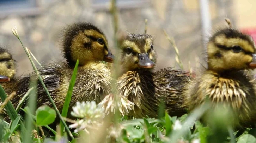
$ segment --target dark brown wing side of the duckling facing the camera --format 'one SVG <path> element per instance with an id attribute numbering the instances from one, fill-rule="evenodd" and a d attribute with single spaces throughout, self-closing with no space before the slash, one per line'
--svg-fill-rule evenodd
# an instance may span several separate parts
<path id="1" fill-rule="evenodd" d="M 172 68 L 160 69 L 153 74 L 158 102 L 165 102 L 165 110 L 171 116 L 182 116 L 186 113 L 182 92 L 185 83 L 191 78 L 190 75 L 186 71 Z"/>

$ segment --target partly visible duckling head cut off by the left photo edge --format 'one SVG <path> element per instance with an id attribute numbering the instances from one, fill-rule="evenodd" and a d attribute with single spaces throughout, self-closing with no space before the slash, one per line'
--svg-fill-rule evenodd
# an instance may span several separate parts
<path id="1" fill-rule="evenodd" d="M 0 82 L 9 81 L 16 74 L 15 60 L 8 50 L 0 47 Z"/>

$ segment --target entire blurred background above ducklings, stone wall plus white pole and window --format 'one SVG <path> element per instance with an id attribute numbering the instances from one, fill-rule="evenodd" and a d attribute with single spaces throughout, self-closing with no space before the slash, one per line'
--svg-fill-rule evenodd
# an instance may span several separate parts
<path id="1" fill-rule="evenodd" d="M 163 29 L 175 39 L 184 69 L 196 69 L 203 63 L 206 36 L 226 26 L 227 16 L 233 27 L 254 36 L 255 0 L 117 0 L 119 29 L 155 36 L 157 68 L 175 67 L 175 51 Z M 41 63 L 61 60 L 61 29 L 73 22 L 91 22 L 106 34 L 111 50 L 113 23 L 110 0 L 0 0 L 0 45 L 10 49 L 18 62 L 18 75 L 29 73 L 32 66 L 11 28 L 17 26 L 23 44 Z M 115 52 L 114 52 L 115 53 Z M 116 53 L 117 54 L 117 53 Z"/>

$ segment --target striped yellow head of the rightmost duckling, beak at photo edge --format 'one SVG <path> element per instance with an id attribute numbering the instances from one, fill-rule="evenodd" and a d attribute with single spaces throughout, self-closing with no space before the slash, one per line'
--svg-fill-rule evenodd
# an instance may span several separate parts
<path id="1" fill-rule="evenodd" d="M 251 36 L 231 28 L 219 30 L 207 45 L 208 69 L 223 72 L 255 68 L 255 52 Z"/>

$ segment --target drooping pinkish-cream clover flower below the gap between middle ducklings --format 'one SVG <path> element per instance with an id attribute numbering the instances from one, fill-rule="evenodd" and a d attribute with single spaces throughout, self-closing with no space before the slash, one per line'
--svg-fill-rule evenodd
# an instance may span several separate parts
<path id="1" fill-rule="evenodd" d="M 114 104 L 114 94 L 107 95 L 102 102 L 100 102 L 98 105 L 101 105 L 102 108 L 104 108 L 105 113 L 108 115 L 110 112 L 115 113 L 115 105 L 117 105 L 119 112 L 124 116 L 129 113 L 130 110 L 134 110 L 134 103 L 130 102 L 127 98 L 124 96 L 118 96 L 117 103 Z"/>

